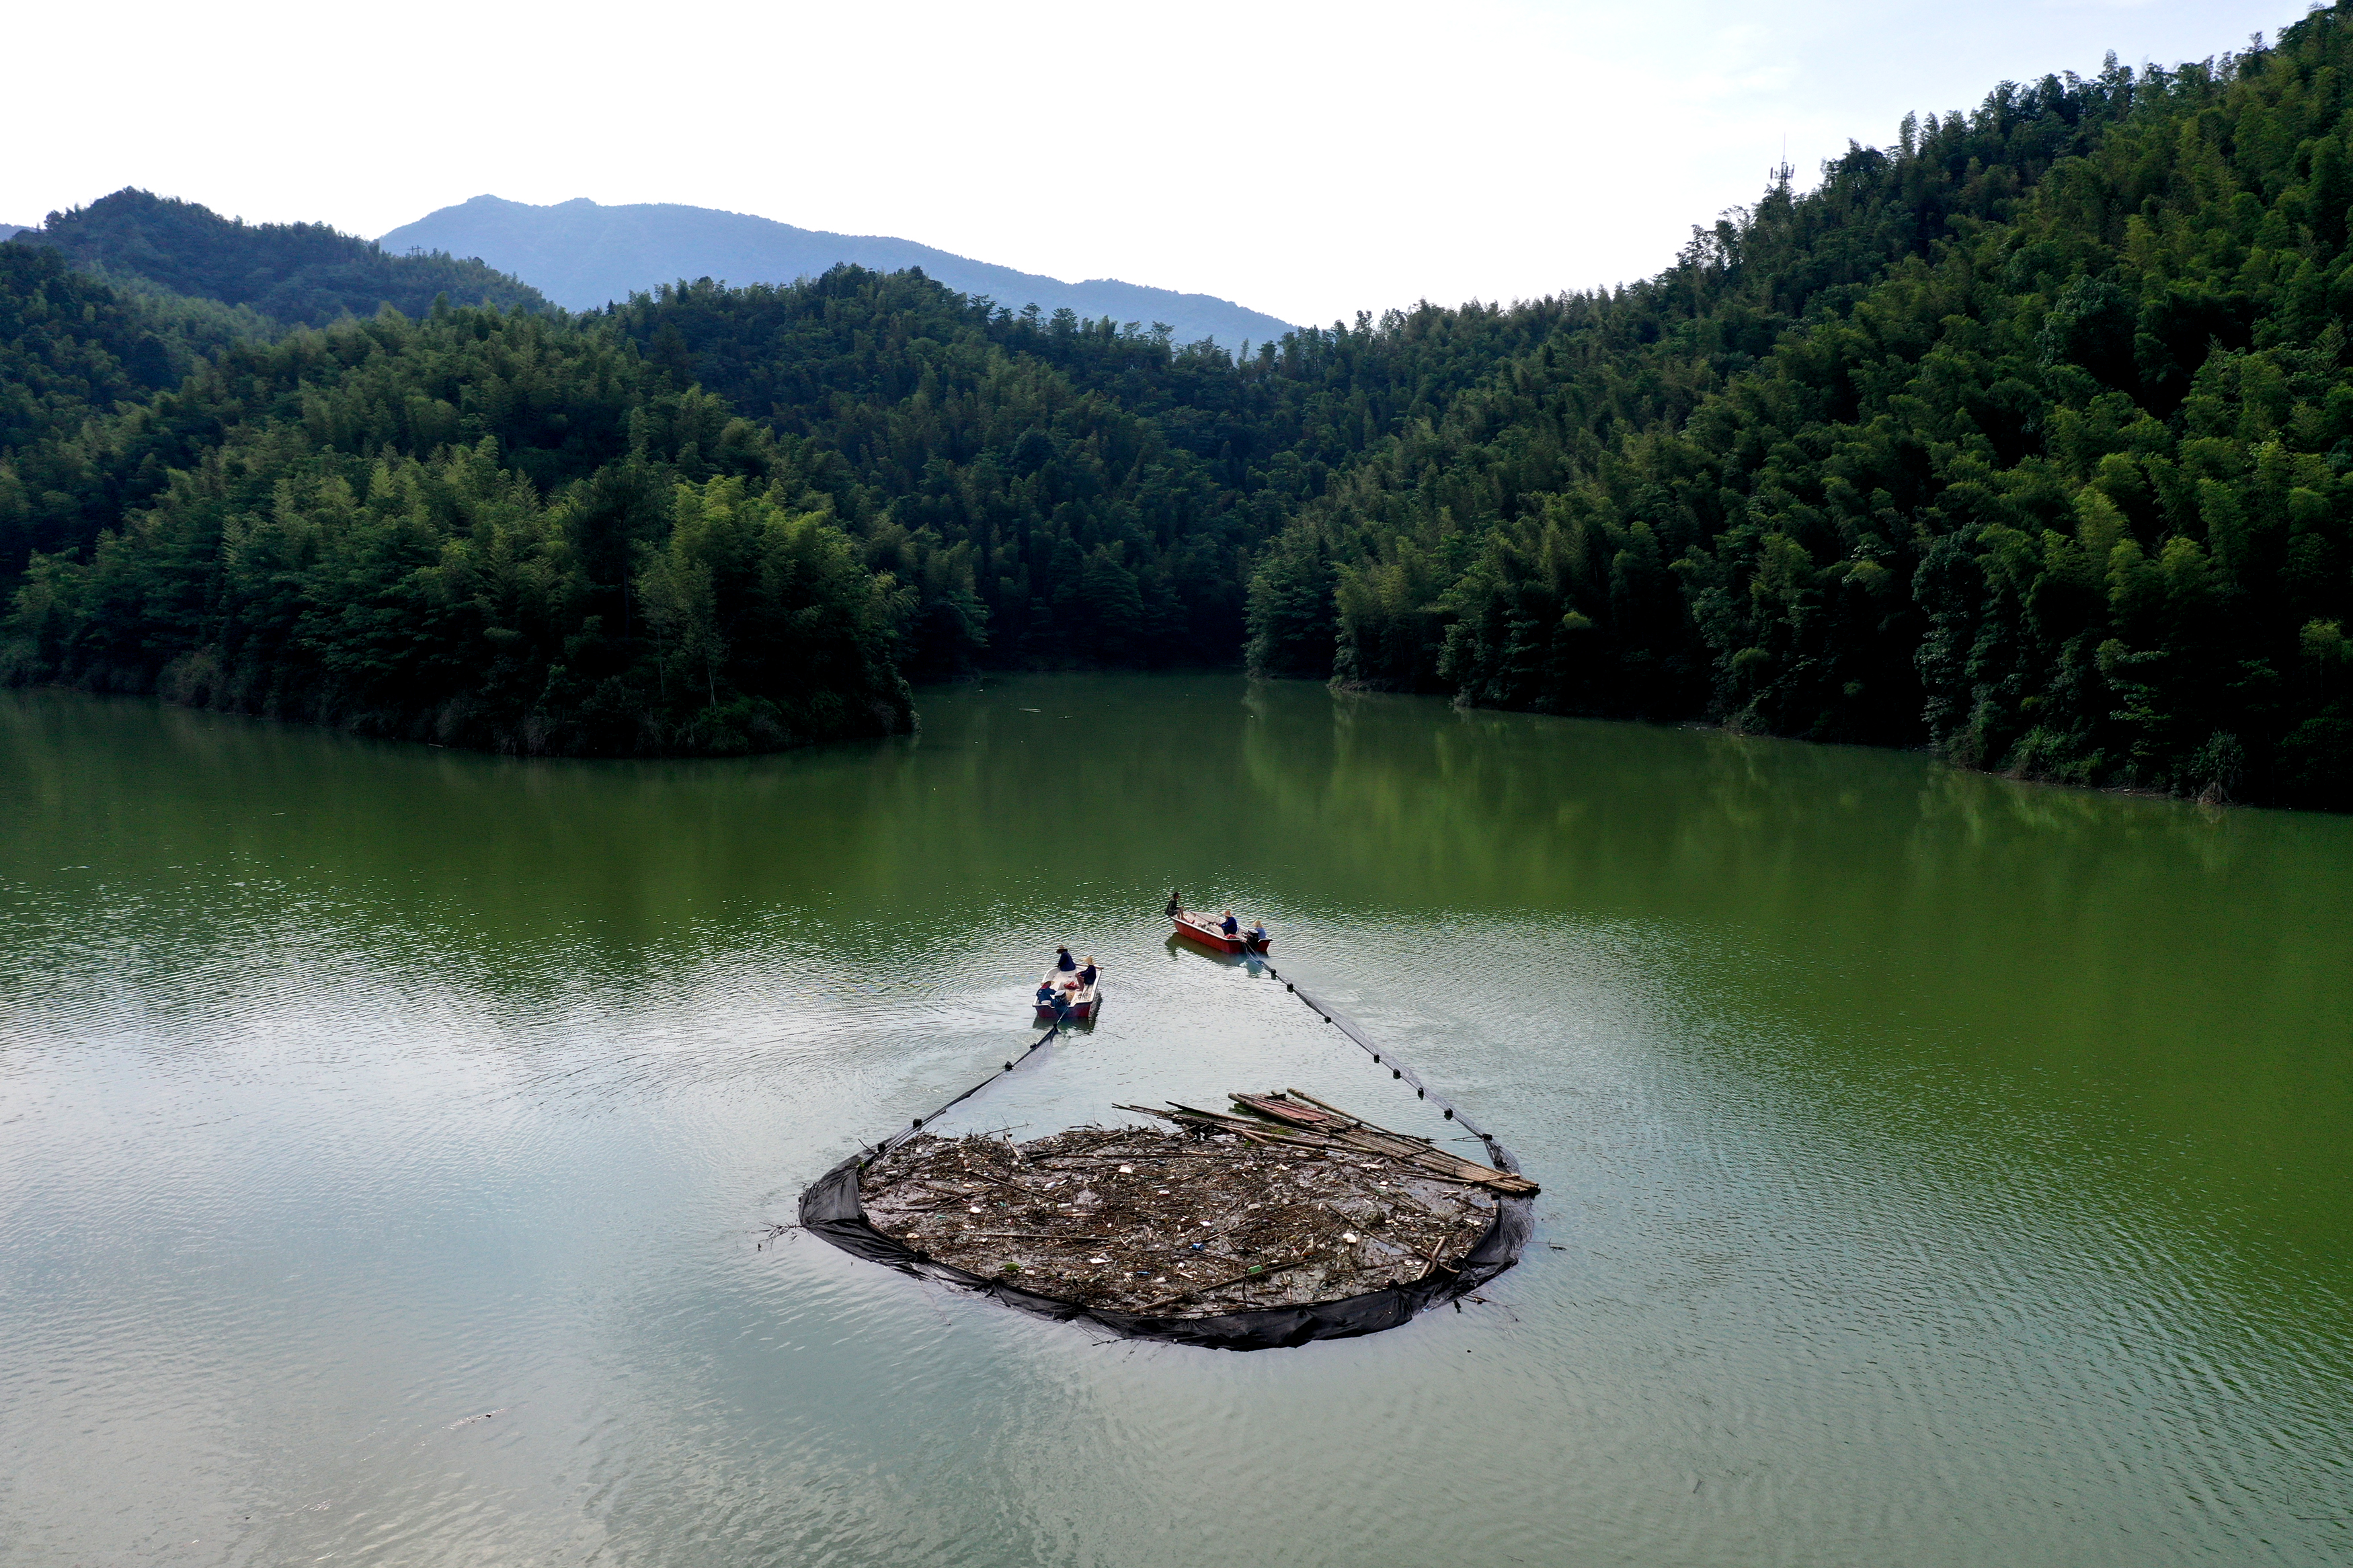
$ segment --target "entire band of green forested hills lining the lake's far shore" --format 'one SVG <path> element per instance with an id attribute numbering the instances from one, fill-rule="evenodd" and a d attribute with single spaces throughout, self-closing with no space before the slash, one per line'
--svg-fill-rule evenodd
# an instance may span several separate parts
<path id="1" fill-rule="evenodd" d="M 280 334 L 268 268 L 5 244 L 0 661 L 659 752 L 1247 644 L 2353 806 L 2346 16 L 1906 122 L 1621 292 L 1247 360 L 859 268 Z"/>

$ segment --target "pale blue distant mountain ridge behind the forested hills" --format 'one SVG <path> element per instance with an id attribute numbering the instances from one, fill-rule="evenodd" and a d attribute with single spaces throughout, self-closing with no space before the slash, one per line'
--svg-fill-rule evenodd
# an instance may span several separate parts
<path id="1" fill-rule="evenodd" d="M 741 212 L 668 202 L 600 207 L 579 197 L 532 207 L 478 195 L 395 228 L 379 244 L 393 254 L 424 249 L 480 256 L 572 310 L 593 310 L 664 282 L 694 277 L 732 284 L 793 282 L 814 277 L 838 261 L 854 261 L 878 273 L 920 266 L 927 277 L 951 289 L 986 294 L 1014 310 L 1035 303 L 1047 313 L 1071 308 L 1082 317 L 1144 327 L 1167 322 L 1176 329 L 1179 343 L 1217 339 L 1224 348 L 1238 350 L 1245 339 L 1271 343 L 1292 331 L 1289 322 L 1212 294 L 1148 289 L 1115 277 L 1061 282 L 913 240 L 833 235 Z"/>

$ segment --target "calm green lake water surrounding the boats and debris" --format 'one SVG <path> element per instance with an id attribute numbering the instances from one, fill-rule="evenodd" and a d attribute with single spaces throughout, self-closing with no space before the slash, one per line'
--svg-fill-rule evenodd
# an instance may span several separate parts
<path id="1" fill-rule="evenodd" d="M 0 693 L 0 1561 L 2353 1563 L 2353 820 L 1226 677 L 541 764 Z M 1527 1262 L 1094 1342 L 765 1225 L 1297 1084 Z M 1449 1131 L 1433 1124 L 1435 1131 Z M 487 1415 L 487 1420 L 482 1420 Z"/>

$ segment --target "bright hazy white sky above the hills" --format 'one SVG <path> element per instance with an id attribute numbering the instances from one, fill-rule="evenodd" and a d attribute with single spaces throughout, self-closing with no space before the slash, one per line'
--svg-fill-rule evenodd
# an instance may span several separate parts
<path id="1" fill-rule="evenodd" d="M 28 5 L 0 221 L 122 186 L 379 235 L 692 202 L 1299 322 L 1659 270 L 2002 78 L 2205 59 L 2304 0 Z"/>

